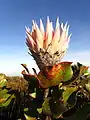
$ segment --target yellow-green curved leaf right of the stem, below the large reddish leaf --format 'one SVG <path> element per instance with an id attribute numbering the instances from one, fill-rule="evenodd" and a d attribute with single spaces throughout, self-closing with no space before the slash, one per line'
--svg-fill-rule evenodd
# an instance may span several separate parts
<path id="1" fill-rule="evenodd" d="M 63 102 L 66 103 L 70 95 L 77 91 L 78 87 L 68 87 L 63 92 Z"/>

